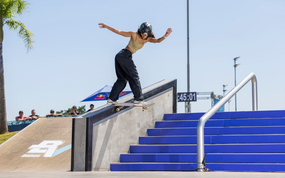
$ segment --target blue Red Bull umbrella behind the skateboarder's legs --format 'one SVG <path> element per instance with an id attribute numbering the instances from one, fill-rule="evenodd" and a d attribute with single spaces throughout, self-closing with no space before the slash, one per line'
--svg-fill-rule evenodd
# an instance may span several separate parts
<path id="1" fill-rule="evenodd" d="M 112 86 L 104 86 L 103 88 L 101 88 L 100 90 L 98 90 L 97 92 L 93 93 L 92 95 L 88 96 L 87 98 L 85 98 L 82 101 L 98 101 L 98 100 L 107 100 L 110 92 L 112 90 Z M 122 96 L 128 95 L 129 93 L 131 93 L 131 89 L 124 89 L 120 95 L 119 98 L 121 98 Z M 82 102 L 80 101 L 80 102 Z"/>

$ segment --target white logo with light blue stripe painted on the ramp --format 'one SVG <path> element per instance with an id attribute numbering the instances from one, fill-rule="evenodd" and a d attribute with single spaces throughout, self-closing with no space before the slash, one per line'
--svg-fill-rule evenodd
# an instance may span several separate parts
<path id="1" fill-rule="evenodd" d="M 38 145 L 32 145 L 29 147 L 30 151 L 26 153 L 41 153 L 44 154 L 44 157 L 52 157 L 58 155 L 61 152 L 66 151 L 71 148 L 71 145 L 67 145 L 61 149 L 59 149 L 56 153 L 58 146 L 63 144 L 64 140 L 44 140 Z M 24 154 L 21 157 L 39 157 L 40 154 Z"/>

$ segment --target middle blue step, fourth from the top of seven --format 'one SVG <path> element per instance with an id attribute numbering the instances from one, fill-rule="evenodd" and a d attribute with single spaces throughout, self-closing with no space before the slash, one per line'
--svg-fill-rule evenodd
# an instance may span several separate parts
<path id="1" fill-rule="evenodd" d="M 196 144 L 197 136 L 139 137 L 139 144 Z M 204 143 L 285 143 L 285 135 L 210 135 Z"/>

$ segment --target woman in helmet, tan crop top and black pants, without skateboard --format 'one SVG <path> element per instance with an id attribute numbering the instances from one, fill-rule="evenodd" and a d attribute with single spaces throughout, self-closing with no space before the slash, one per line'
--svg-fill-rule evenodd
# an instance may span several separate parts
<path id="1" fill-rule="evenodd" d="M 131 37 L 127 47 L 122 49 L 115 57 L 115 69 L 118 79 L 113 85 L 107 104 L 118 104 L 119 94 L 123 91 L 129 81 L 131 90 L 134 94 L 134 106 L 146 106 L 147 103 L 143 101 L 144 98 L 139 80 L 140 77 L 136 65 L 132 60 L 132 55 L 137 50 L 141 49 L 146 42 L 160 43 L 170 35 L 172 29 L 168 28 L 163 37 L 155 38 L 152 33 L 152 25 L 147 22 L 143 23 L 137 32 L 124 32 L 119 29 L 114 29 L 104 23 L 99 23 L 98 25 L 100 28 L 106 28 L 124 37 Z"/>

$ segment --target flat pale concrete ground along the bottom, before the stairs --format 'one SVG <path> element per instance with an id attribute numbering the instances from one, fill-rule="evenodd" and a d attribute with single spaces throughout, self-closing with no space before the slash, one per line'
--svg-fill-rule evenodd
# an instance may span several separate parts
<path id="1" fill-rule="evenodd" d="M 285 173 L 268 172 L 173 172 L 173 171 L 136 171 L 136 172 L 0 172 L 0 178 L 284 178 Z"/>

